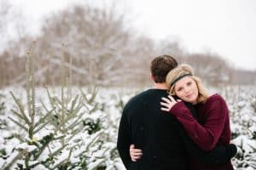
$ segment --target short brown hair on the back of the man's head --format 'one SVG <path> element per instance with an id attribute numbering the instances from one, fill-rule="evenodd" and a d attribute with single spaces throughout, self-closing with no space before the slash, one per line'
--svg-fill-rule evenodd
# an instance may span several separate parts
<path id="1" fill-rule="evenodd" d="M 177 67 L 177 60 L 170 55 L 160 55 L 151 61 L 150 71 L 154 82 L 166 82 L 169 71 Z"/>

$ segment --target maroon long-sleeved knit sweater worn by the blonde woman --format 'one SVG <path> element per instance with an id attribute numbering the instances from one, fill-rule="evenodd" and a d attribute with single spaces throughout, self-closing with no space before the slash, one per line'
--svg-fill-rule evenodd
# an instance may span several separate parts
<path id="1" fill-rule="evenodd" d="M 195 105 L 195 111 L 198 114 L 198 120 L 190 113 L 184 103 L 177 102 L 172 107 L 170 113 L 177 117 L 178 122 L 181 122 L 189 137 L 201 147 L 203 150 L 212 150 L 216 144 L 229 144 L 231 139 L 230 132 L 230 116 L 229 110 L 224 99 L 213 94 L 207 99 L 204 104 Z M 233 169 L 230 162 L 218 165 L 209 166 L 191 161 L 192 169 Z"/>

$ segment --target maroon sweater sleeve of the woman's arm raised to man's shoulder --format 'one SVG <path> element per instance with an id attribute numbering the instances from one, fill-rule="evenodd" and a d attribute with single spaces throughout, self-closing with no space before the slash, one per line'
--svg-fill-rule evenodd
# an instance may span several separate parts
<path id="1" fill-rule="evenodd" d="M 228 115 L 224 100 L 214 98 L 208 103 L 208 111 L 203 126 L 195 120 L 183 102 L 177 102 L 170 113 L 181 122 L 189 137 L 203 150 L 212 150 L 224 129 Z"/>

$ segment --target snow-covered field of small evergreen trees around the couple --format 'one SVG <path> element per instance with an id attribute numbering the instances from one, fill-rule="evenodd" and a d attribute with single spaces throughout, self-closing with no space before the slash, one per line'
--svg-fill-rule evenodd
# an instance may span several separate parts
<path id="1" fill-rule="evenodd" d="M 125 169 L 116 150 L 119 117 L 139 91 L 65 88 L 61 95 L 61 88 L 36 88 L 33 98 L 24 88 L 1 89 L 0 167 Z M 232 143 L 238 147 L 233 165 L 256 169 L 256 88 L 212 91 L 221 94 L 230 108 Z"/>

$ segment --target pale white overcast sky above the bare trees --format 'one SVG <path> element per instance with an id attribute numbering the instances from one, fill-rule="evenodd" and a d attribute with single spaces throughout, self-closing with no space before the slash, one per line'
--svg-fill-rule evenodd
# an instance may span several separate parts
<path id="1" fill-rule="evenodd" d="M 113 0 L 114 1 L 114 0 Z M 217 53 L 230 64 L 256 71 L 255 0 L 115 0 L 123 1 L 136 19 L 137 31 L 155 40 L 178 39 L 191 53 Z M 79 0 L 13 0 L 32 17 L 38 18 L 68 7 Z M 90 3 L 108 0 L 89 0 Z M 105 4 L 104 3 L 104 4 Z"/>

